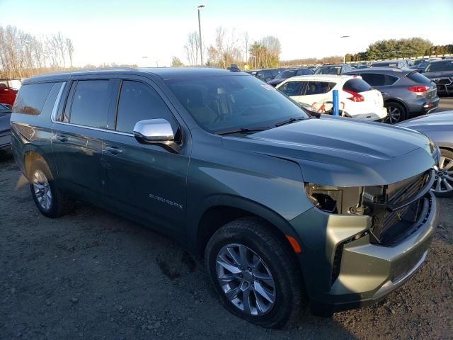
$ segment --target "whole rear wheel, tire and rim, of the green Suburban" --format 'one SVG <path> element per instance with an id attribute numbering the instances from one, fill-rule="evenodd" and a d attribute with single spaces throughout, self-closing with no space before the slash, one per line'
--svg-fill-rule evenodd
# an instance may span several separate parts
<path id="1" fill-rule="evenodd" d="M 72 200 L 57 188 L 44 159 L 36 159 L 30 166 L 30 191 L 38 210 L 46 217 L 56 218 L 74 207 Z"/>

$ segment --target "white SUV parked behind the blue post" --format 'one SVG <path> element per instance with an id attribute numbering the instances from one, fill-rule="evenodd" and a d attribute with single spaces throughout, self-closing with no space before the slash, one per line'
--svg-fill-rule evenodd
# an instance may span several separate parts
<path id="1" fill-rule="evenodd" d="M 381 92 L 360 76 L 314 74 L 292 77 L 279 84 L 277 89 L 319 113 L 332 108 L 332 91 L 338 90 L 341 115 L 379 121 L 387 116 Z"/>

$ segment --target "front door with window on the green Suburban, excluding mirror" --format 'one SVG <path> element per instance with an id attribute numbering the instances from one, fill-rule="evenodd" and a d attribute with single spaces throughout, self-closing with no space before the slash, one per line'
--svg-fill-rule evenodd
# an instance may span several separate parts
<path id="1" fill-rule="evenodd" d="M 153 118 L 165 118 L 176 132 L 176 118 L 156 89 L 136 80 L 121 81 L 116 112 L 115 132 L 103 143 L 105 197 L 135 220 L 182 230 L 189 145 L 175 153 L 132 135 L 135 123 Z"/>

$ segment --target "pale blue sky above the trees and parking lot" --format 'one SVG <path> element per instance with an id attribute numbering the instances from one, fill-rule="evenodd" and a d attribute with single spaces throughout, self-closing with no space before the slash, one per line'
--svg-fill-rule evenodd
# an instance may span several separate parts
<path id="1" fill-rule="evenodd" d="M 62 32 L 73 41 L 76 66 L 168 66 L 173 55 L 187 63 L 183 46 L 198 29 L 200 3 L 204 45 L 214 43 L 217 26 L 234 29 L 240 41 L 245 31 L 251 42 L 274 35 L 282 60 L 365 51 L 389 38 L 453 43 L 453 0 L 0 0 L 0 25 Z"/>

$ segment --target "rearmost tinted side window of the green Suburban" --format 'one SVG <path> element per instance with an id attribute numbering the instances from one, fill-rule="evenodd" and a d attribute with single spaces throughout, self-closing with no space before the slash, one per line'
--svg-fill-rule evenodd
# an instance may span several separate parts
<path id="1" fill-rule="evenodd" d="M 14 102 L 13 112 L 39 115 L 54 84 L 27 84 L 21 86 L 21 91 L 19 91 Z"/>

